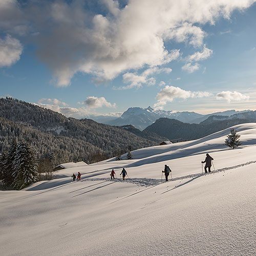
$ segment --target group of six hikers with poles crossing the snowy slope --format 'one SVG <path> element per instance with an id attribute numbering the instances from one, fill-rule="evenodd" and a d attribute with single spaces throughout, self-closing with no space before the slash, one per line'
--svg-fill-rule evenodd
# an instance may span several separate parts
<path id="1" fill-rule="evenodd" d="M 202 164 L 205 163 L 204 171 L 205 171 L 206 174 L 207 174 L 207 168 L 208 168 L 208 172 L 210 173 L 210 167 L 211 167 L 211 161 L 212 160 L 214 160 L 214 159 L 207 153 L 205 160 L 201 162 Z M 170 169 L 170 167 L 167 164 L 165 164 L 164 165 L 164 170 L 162 170 L 162 173 L 164 173 L 165 181 L 168 181 L 168 176 L 169 176 L 170 173 L 172 173 L 172 170 Z M 115 179 L 115 174 L 116 173 L 115 173 L 114 169 L 112 169 L 111 174 L 110 174 L 111 179 Z M 127 175 L 127 172 L 124 168 L 122 169 L 122 172 L 120 173 L 120 175 L 122 175 L 123 180 L 125 180 L 125 176 Z M 170 174 L 170 175 L 172 176 L 172 174 Z M 76 177 L 75 174 L 73 174 L 72 178 L 73 178 L 73 181 L 75 181 L 76 178 L 77 178 L 77 181 L 80 181 L 81 180 L 81 174 L 78 172 L 77 177 Z"/>

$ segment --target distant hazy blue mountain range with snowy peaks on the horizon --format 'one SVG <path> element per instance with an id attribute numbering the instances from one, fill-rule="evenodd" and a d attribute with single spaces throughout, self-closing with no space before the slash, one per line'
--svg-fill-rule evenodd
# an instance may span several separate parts
<path id="1" fill-rule="evenodd" d="M 144 130 L 147 126 L 153 124 L 159 118 L 176 119 L 184 123 L 200 123 L 210 116 L 232 116 L 234 114 L 243 114 L 250 112 L 250 110 L 236 111 L 228 110 L 224 112 L 217 112 L 207 115 L 198 114 L 196 112 L 178 112 L 178 111 L 164 111 L 154 110 L 151 106 L 146 109 L 142 108 L 129 108 L 119 118 L 113 120 L 102 120 L 103 123 L 122 126 L 131 124 L 139 130 Z"/>

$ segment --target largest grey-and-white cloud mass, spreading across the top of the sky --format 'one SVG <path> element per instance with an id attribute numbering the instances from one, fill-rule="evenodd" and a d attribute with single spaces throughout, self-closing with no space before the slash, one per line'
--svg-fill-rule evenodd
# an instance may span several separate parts
<path id="1" fill-rule="evenodd" d="M 169 63 L 174 60 L 173 51 L 177 52 L 169 41 L 191 45 L 197 52 L 190 56 L 193 61 L 203 60 L 207 55 L 203 25 L 229 18 L 233 10 L 244 10 L 253 2 L 128 0 L 123 8 L 118 1 L 102 0 L 93 2 L 98 8 L 87 11 L 84 1 L 29 0 L 19 5 L 16 0 L 2 0 L 0 29 L 33 35 L 37 56 L 51 68 L 57 85 L 65 87 L 77 72 L 104 81 Z M 104 7 L 99 8 L 102 3 Z M 104 9 L 104 15 L 93 13 L 99 9 Z M 198 63 L 190 61 L 183 70 L 198 68 Z"/>

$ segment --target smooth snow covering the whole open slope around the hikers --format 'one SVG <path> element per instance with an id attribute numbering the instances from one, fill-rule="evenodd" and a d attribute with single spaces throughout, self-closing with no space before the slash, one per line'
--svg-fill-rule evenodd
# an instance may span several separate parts
<path id="1" fill-rule="evenodd" d="M 1 255 L 255 255 L 256 123 L 233 128 L 243 143 L 235 150 L 224 146 L 226 129 L 0 191 Z M 202 175 L 205 153 L 216 170 Z"/>

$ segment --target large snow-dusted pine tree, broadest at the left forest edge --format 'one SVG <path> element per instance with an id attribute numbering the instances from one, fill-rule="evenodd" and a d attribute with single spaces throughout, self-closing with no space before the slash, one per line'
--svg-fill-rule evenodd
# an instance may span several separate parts
<path id="1" fill-rule="evenodd" d="M 17 144 L 13 167 L 14 188 L 19 190 L 39 180 L 37 158 L 30 145 L 24 141 Z"/>

